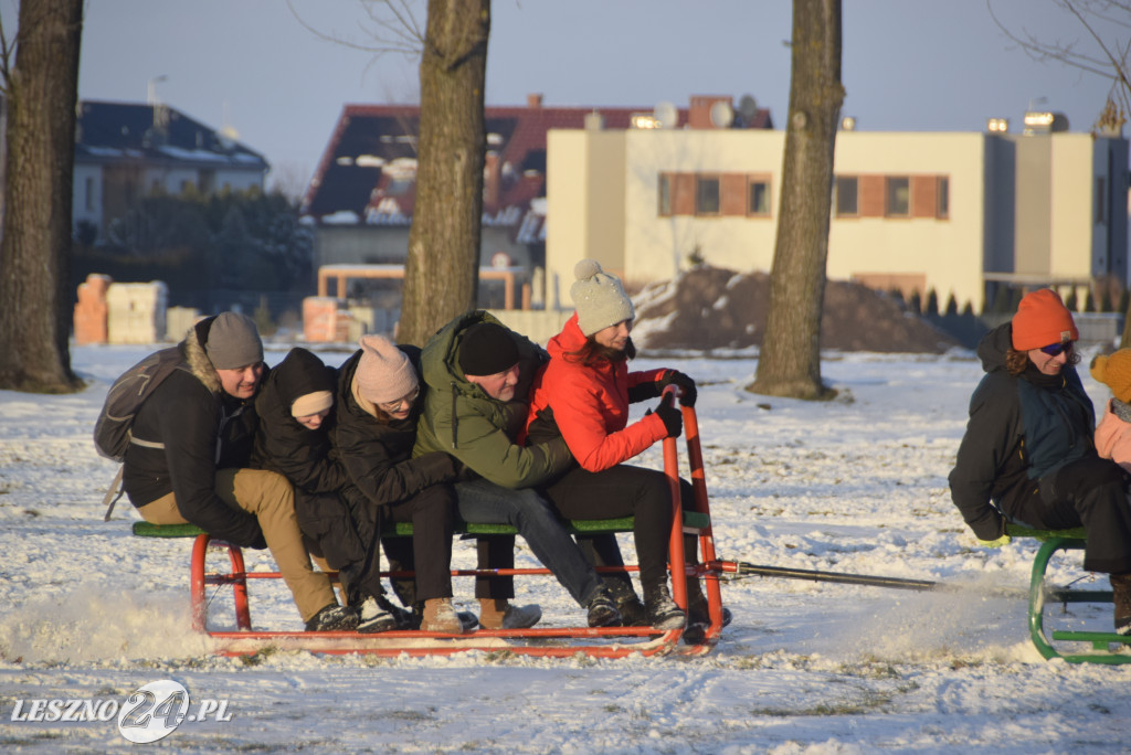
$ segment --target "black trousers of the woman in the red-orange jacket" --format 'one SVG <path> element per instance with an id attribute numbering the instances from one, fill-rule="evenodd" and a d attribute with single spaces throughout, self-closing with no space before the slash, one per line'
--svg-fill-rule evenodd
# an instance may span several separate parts
<path id="1" fill-rule="evenodd" d="M 691 502 L 691 485 L 680 480 L 684 502 Z M 645 597 L 657 587 L 667 584 L 667 541 L 672 532 L 672 494 L 667 476 L 655 469 L 618 465 L 599 472 L 576 467 L 543 491 L 550 502 L 567 519 L 618 519 L 634 517 L 632 537 L 640 565 L 640 584 Z M 607 536 L 612 538 L 612 536 Z M 593 544 L 604 565 L 619 552 L 608 552 L 607 539 Z M 582 552 L 588 548 L 582 547 Z M 694 558 L 694 548 L 687 554 Z M 623 562 L 621 562 L 623 563 Z M 607 575 L 605 575 L 607 576 Z M 606 584 L 610 580 L 606 579 Z M 613 584 L 610 588 L 620 593 Z"/>

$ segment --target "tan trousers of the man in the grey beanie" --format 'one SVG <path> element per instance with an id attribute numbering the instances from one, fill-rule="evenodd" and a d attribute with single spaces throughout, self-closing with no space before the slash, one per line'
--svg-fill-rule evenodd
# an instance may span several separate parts
<path id="1" fill-rule="evenodd" d="M 216 471 L 216 495 L 259 520 L 267 547 L 303 622 L 337 602 L 329 576 L 310 565 L 310 554 L 294 515 L 294 491 L 285 477 L 260 469 L 221 469 Z M 152 524 L 187 523 L 172 493 L 140 506 L 138 513 Z"/>

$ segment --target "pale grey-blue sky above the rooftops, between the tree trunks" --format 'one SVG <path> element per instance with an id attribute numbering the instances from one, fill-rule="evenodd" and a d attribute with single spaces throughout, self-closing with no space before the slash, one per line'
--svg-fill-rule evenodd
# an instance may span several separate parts
<path id="1" fill-rule="evenodd" d="M 0 6 L 12 28 L 15 0 Z M 1082 37 L 1052 0 L 990 0 L 1011 29 Z M 379 5 L 379 3 L 378 3 Z M 79 96 L 164 103 L 264 154 L 271 181 L 304 185 L 346 104 L 415 103 L 417 61 L 375 55 L 363 0 L 87 0 Z M 423 0 L 409 0 L 423 26 Z M 780 128 L 788 105 L 786 0 L 494 0 L 486 102 L 687 106 L 752 95 Z M 843 114 L 858 130 L 1020 128 L 1031 105 L 1086 131 L 1110 84 L 1036 62 L 994 25 L 985 0 L 844 0 Z M 387 35 L 387 32 L 385 32 Z"/>

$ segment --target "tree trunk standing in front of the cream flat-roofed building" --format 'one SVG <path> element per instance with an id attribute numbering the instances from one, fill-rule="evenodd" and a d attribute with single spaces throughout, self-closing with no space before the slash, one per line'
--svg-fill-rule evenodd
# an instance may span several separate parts
<path id="1" fill-rule="evenodd" d="M 769 312 L 758 372 L 748 390 L 817 399 L 821 309 L 829 251 L 832 154 L 844 102 L 840 0 L 794 0 L 789 118 L 782 167 Z"/>

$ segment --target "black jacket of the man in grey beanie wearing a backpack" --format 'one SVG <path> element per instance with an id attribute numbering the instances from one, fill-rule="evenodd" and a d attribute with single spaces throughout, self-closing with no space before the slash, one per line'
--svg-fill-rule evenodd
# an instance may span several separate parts
<path id="1" fill-rule="evenodd" d="M 215 538 L 262 548 L 256 517 L 216 495 L 217 469 L 249 466 L 257 417 L 250 400 L 224 392 L 208 359 L 204 344 L 214 320 L 201 320 L 179 344 L 184 365 L 138 410 L 133 439 L 152 445 L 131 443 L 127 449 L 122 485 L 135 506 L 173 493 L 189 522 Z"/>

